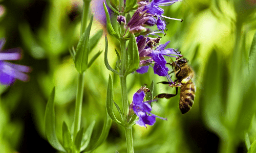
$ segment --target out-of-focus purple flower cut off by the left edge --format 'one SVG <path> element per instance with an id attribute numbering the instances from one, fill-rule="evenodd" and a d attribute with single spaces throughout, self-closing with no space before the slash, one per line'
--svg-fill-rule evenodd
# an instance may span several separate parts
<path id="1" fill-rule="evenodd" d="M 24 72 L 30 72 L 30 67 L 6 61 L 21 59 L 20 48 L 2 50 L 4 44 L 5 39 L 0 39 L 0 83 L 3 85 L 11 85 L 16 79 L 28 81 L 29 76 Z"/>

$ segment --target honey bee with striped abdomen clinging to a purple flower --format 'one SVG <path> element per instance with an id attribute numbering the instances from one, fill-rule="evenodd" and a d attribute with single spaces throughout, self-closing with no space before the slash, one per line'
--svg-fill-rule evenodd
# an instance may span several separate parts
<path id="1" fill-rule="evenodd" d="M 175 72 L 177 80 L 175 80 L 175 84 L 171 85 L 169 82 L 160 82 L 162 84 L 169 84 L 170 87 L 176 87 L 176 94 L 162 93 L 155 96 L 155 98 L 157 97 L 168 99 L 170 97 L 176 96 L 178 94 L 178 87 L 180 87 L 179 109 L 182 114 L 188 112 L 194 104 L 196 90 L 196 86 L 192 81 L 195 73 L 193 69 L 187 64 L 187 62 L 188 61 L 185 58 L 182 58 L 173 63 L 167 63 L 173 67 L 173 72 Z"/>

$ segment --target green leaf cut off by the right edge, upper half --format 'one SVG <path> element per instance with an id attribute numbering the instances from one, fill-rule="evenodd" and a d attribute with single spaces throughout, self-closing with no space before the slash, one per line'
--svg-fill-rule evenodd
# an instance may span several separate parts
<path id="1" fill-rule="evenodd" d="M 254 73 L 256 65 L 256 32 L 254 34 L 249 53 L 249 72 Z"/>

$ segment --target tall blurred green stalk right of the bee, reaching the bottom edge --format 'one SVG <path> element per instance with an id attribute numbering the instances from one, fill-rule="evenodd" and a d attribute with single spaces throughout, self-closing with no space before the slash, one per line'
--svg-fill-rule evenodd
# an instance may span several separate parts
<path id="1" fill-rule="evenodd" d="M 234 152 L 237 146 L 237 139 L 233 137 L 236 134 L 236 126 L 238 124 L 238 117 L 240 112 L 241 100 L 242 100 L 242 92 L 243 86 L 241 82 L 243 82 L 244 76 L 241 75 L 243 69 L 243 52 L 241 50 L 242 44 L 242 22 L 237 20 L 237 33 L 236 33 L 236 44 L 233 50 L 233 57 L 231 61 L 231 79 L 229 82 L 229 94 L 227 98 L 227 113 L 226 113 L 226 125 L 228 132 L 228 139 L 223 140 L 221 144 L 221 152 L 229 153 Z"/>

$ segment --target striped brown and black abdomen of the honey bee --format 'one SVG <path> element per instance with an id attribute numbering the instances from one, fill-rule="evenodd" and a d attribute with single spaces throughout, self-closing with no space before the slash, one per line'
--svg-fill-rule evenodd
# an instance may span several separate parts
<path id="1" fill-rule="evenodd" d="M 194 104 L 195 99 L 195 85 L 189 80 L 180 88 L 180 111 L 182 114 L 185 114 L 190 110 Z"/>

